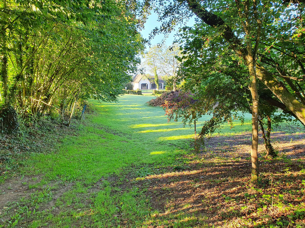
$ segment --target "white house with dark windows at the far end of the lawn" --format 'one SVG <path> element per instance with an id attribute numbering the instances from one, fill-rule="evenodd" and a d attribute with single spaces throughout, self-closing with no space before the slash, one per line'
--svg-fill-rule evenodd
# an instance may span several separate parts
<path id="1" fill-rule="evenodd" d="M 164 81 L 163 79 L 158 76 L 159 80 L 159 89 L 163 89 Z M 155 84 L 155 77 L 152 75 L 145 75 L 145 74 L 137 74 L 133 78 L 133 89 L 156 89 L 157 85 Z"/>

